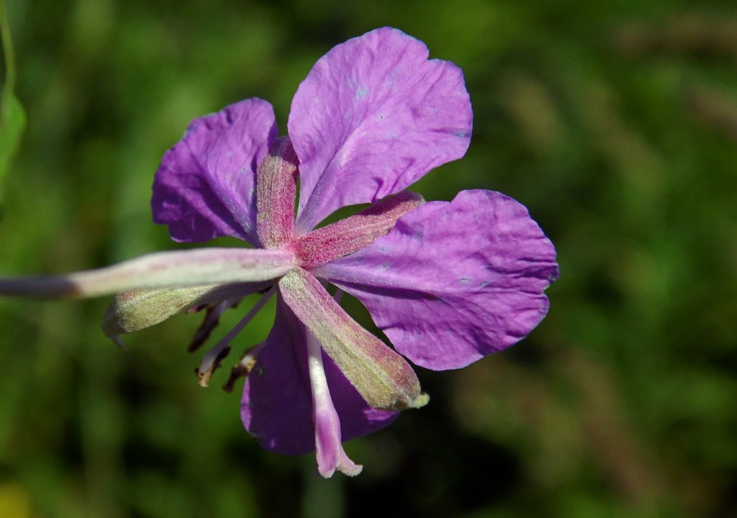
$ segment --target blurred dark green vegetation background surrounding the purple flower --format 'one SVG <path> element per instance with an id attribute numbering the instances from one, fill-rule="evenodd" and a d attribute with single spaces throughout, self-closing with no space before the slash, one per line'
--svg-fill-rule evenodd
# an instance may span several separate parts
<path id="1" fill-rule="evenodd" d="M 99 329 L 107 301 L 0 300 L 1 518 L 737 517 L 733 1 L 9 4 L 28 125 L 3 274 L 180 246 L 148 203 L 188 122 L 262 97 L 284 128 L 318 57 L 391 25 L 461 66 L 475 111 L 466 158 L 416 190 L 522 201 L 561 278 L 522 343 L 418 369 L 430 405 L 347 444 L 364 472 L 331 480 L 259 449 L 242 382 L 218 388 L 227 368 L 198 388 L 199 317 L 121 351 Z"/>

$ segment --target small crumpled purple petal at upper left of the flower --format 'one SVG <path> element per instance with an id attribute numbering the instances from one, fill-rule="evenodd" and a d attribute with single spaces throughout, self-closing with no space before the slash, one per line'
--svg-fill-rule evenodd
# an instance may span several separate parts
<path id="1" fill-rule="evenodd" d="M 245 99 L 195 119 L 167 151 L 153 180 L 155 223 L 175 241 L 256 238 L 256 167 L 276 139 L 271 105 Z"/>

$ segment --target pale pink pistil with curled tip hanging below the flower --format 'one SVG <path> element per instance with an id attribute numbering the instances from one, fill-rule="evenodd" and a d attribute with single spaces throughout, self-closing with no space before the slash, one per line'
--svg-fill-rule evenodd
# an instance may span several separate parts
<path id="1" fill-rule="evenodd" d="M 340 419 L 332 404 L 330 389 L 325 377 L 322 346 L 307 331 L 307 364 L 312 388 L 312 419 L 315 427 L 315 450 L 318 472 L 325 478 L 332 477 L 335 469 L 350 477 L 358 475 L 363 466 L 354 463 L 343 450 L 340 437 Z"/>

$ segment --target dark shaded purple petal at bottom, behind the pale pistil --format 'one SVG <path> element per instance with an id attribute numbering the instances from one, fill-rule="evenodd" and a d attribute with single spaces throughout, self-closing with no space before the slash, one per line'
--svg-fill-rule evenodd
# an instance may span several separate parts
<path id="1" fill-rule="evenodd" d="M 245 429 L 265 449 L 286 455 L 315 451 L 305 333 L 280 298 L 266 346 L 245 380 L 240 406 Z M 323 362 L 343 441 L 380 430 L 397 418 L 398 413 L 368 407 L 324 353 Z"/>

